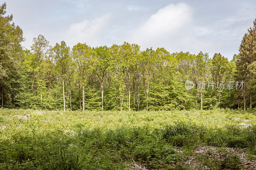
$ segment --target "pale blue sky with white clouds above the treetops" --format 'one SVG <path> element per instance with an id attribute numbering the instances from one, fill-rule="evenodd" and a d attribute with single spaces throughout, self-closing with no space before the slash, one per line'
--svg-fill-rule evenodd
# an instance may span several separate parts
<path id="1" fill-rule="evenodd" d="M 2 4 L 3 2 L 1 2 Z M 54 46 L 65 41 L 108 47 L 124 41 L 141 50 L 170 53 L 238 54 L 244 33 L 256 18 L 256 2 L 202 0 L 7 0 L 7 14 L 19 25 L 30 49 L 39 34 Z"/>

